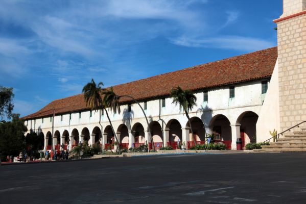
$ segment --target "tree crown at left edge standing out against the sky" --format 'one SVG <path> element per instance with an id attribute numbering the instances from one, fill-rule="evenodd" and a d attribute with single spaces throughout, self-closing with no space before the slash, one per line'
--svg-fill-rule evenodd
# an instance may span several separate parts
<path id="1" fill-rule="evenodd" d="M 13 105 L 13 88 L 0 86 L 0 118 L 11 118 Z"/>

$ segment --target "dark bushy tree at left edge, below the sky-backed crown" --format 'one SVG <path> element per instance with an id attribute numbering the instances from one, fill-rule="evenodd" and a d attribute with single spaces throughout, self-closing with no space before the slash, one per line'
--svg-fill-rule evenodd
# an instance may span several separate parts
<path id="1" fill-rule="evenodd" d="M 12 121 L 0 123 L 0 155 L 1 160 L 6 156 L 18 156 L 25 148 L 25 133 L 27 127 L 19 114 L 12 114 Z"/>

